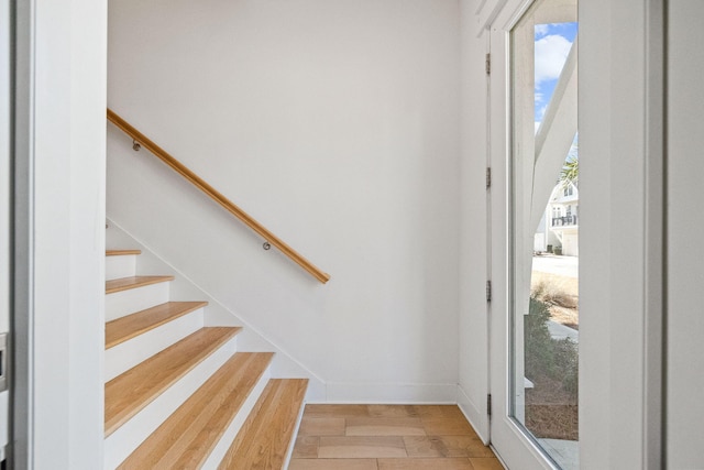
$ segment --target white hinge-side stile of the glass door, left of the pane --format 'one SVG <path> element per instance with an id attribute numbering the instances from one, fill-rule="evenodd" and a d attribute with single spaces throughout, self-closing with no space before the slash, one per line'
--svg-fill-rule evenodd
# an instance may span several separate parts
<path id="1" fill-rule="evenodd" d="M 490 196 L 490 391 L 492 396 L 491 440 L 508 468 L 554 469 L 552 462 L 509 417 L 510 409 L 510 193 L 512 112 L 509 32 L 534 0 L 509 0 L 497 10 L 490 25 L 490 149 L 492 189 Z"/>

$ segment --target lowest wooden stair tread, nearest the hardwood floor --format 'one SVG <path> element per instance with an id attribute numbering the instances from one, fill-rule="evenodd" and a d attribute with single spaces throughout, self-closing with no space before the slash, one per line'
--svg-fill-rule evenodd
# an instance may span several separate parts
<path id="1" fill-rule="evenodd" d="M 271 380 L 218 469 L 282 469 L 307 386 L 307 379 Z"/>

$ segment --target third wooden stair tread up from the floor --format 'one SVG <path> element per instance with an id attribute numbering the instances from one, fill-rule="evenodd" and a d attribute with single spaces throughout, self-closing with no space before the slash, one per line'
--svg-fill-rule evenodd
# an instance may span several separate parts
<path id="1" fill-rule="evenodd" d="M 202 328 L 106 383 L 106 437 L 240 330 Z"/>

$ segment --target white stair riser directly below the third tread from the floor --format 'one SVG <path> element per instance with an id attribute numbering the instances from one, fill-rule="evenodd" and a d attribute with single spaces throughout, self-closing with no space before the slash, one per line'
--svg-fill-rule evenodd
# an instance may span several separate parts
<path id="1" fill-rule="evenodd" d="M 117 468 L 161 424 L 200 387 L 237 350 L 237 337 L 230 339 L 178 382 L 157 396 L 144 409 L 120 426 L 105 442 L 105 468 Z"/>

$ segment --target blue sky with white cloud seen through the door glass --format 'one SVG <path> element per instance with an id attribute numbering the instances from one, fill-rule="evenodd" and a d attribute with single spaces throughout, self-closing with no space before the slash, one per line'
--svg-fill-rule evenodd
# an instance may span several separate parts
<path id="1" fill-rule="evenodd" d="M 568 58 L 578 23 L 536 24 L 536 129 Z"/>

